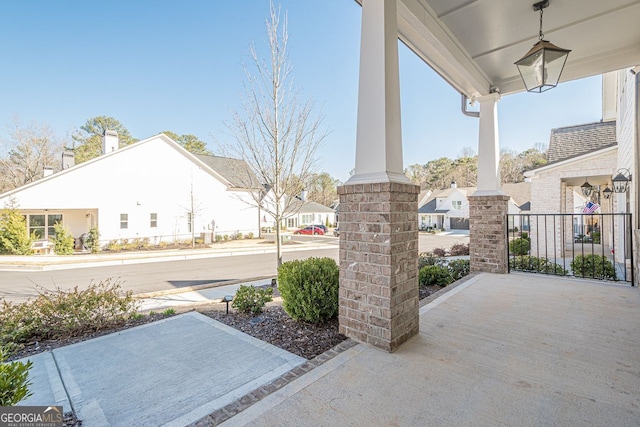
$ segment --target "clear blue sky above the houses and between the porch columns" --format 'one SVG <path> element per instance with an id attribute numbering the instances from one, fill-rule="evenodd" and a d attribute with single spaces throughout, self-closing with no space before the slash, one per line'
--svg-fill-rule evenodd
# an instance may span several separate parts
<path id="1" fill-rule="evenodd" d="M 295 84 L 331 131 L 320 169 L 346 180 L 355 162 L 360 6 L 285 0 Z M 268 0 L 0 2 L 0 138 L 13 117 L 70 135 L 112 116 L 136 138 L 194 134 L 217 151 L 240 108 L 249 45 L 268 54 Z M 535 40 L 532 40 L 532 43 Z M 569 61 L 571 57 L 569 57 Z M 460 95 L 400 44 L 405 166 L 477 151 L 477 119 Z M 601 78 L 567 82 L 498 104 L 501 147 L 548 143 L 552 128 L 601 119 Z"/>

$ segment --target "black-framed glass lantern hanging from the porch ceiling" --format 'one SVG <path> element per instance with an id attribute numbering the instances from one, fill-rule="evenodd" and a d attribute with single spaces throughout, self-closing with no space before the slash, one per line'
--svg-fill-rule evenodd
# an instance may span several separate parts
<path id="1" fill-rule="evenodd" d="M 540 32 L 538 42 L 533 45 L 515 64 L 522 81 L 529 92 L 544 92 L 558 85 L 564 64 L 569 56 L 568 49 L 562 49 L 544 40 L 542 33 L 542 10 L 549 6 L 549 0 L 533 5 L 534 11 L 540 11 Z"/>

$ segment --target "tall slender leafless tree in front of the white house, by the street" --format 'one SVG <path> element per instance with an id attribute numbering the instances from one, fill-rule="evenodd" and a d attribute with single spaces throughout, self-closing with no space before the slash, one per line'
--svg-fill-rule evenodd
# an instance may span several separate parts
<path id="1" fill-rule="evenodd" d="M 280 266 L 282 221 L 299 206 L 296 196 L 316 171 L 316 152 L 327 131 L 322 127 L 323 117 L 314 114 L 314 103 L 300 101 L 299 90 L 293 86 L 287 15 L 280 21 L 280 10 L 273 3 L 266 26 L 270 56 L 262 60 L 255 46 L 250 46 L 255 72 L 245 66 L 244 109 L 233 113 L 226 123 L 236 144 L 225 151 L 244 160 L 264 185 L 265 191 L 252 192 L 251 203 L 275 222 Z M 247 187 L 255 187 L 250 179 L 247 177 Z"/>

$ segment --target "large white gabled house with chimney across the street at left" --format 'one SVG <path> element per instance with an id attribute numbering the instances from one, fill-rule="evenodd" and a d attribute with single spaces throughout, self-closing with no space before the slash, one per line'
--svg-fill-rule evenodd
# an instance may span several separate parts
<path id="1" fill-rule="evenodd" d="M 100 242 L 148 238 L 150 243 L 214 234 L 258 235 L 250 174 L 240 160 L 194 155 L 159 134 L 124 148 L 105 132 L 103 154 L 0 195 L 26 215 L 29 233 L 53 236 L 61 222 L 74 237 L 97 227 Z"/>

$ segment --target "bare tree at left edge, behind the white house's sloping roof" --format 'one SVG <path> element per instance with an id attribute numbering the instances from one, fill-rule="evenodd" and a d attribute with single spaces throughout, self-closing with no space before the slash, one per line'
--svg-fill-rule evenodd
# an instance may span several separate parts
<path id="1" fill-rule="evenodd" d="M 44 176 L 45 167 L 60 169 L 62 145 L 46 124 L 23 126 L 17 118 L 10 137 L 0 142 L 0 193 Z"/>

